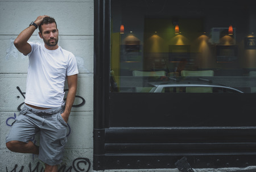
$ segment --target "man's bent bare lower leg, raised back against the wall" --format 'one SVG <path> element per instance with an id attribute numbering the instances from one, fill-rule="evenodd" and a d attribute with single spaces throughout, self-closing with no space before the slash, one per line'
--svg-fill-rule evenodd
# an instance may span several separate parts
<path id="1" fill-rule="evenodd" d="M 39 147 L 32 141 L 28 141 L 28 143 L 16 140 L 9 141 L 6 143 L 6 147 L 13 152 L 39 154 Z"/>

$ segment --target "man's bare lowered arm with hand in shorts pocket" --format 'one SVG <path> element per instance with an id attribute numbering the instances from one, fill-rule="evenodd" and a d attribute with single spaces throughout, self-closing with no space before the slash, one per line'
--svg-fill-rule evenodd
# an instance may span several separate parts
<path id="1" fill-rule="evenodd" d="M 65 110 L 63 114 L 61 114 L 65 122 L 68 122 L 68 117 L 71 112 L 73 102 L 75 101 L 76 88 L 77 88 L 77 74 L 68 76 L 67 78 L 68 78 L 68 95 L 67 95 Z"/>

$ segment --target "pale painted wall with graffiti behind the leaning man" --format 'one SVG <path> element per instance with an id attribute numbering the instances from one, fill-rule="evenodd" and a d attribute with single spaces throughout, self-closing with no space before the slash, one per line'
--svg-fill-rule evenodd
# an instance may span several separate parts
<path id="1" fill-rule="evenodd" d="M 80 171 L 78 167 L 93 171 L 93 8 L 93 0 L 0 0 L 0 171 L 42 169 L 37 156 L 13 153 L 5 146 L 6 134 L 24 102 L 24 93 L 18 89 L 26 91 L 28 65 L 27 57 L 16 50 L 13 41 L 39 15 L 56 19 L 59 45 L 75 54 L 80 72 L 75 100 L 78 107 L 72 108 L 69 117 L 61 167 L 65 171 Z M 38 30 L 30 41 L 42 42 Z M 38 136 L 33 141 L 39 143 Z"/>

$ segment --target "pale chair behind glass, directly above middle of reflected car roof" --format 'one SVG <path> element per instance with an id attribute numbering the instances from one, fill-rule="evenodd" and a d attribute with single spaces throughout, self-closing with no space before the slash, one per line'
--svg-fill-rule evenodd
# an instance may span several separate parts
<path id="1" fill-rule="evenodd" d="M 181 71 L 181 76 L 214 76 L 213 70 L 204 70 L 204 71 Z M 212 87 L 187 87 L 186 93 L 212 93 Z"/>

